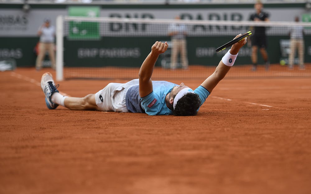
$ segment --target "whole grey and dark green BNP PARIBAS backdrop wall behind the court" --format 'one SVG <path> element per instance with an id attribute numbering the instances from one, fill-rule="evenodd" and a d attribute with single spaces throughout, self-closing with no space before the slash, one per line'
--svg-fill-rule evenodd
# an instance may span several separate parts
<path id="1" fill-rule="evenodd" d="M 51 24 L 56 26 L 57 16 L 88 16 L 88 17 L 118 17 L 138 19 L 173 19 L 179 15 L 185 20 L 248 20 L 254 12 L 253 4 L 128 4 L 111 2 L 107 4 L 32 4 L 29 13 L 25 13 L 22 4 L 2 4 L 0 6 L 0 61 L 15 61 L 17 67 L 35 66 L 37 55 L 34 48 L 39 41 L 37 31 L 43 23 L 43 18 L 49 17 Z M 264 11 L 270 14 L 271 21 L 293 22 L 299 16 L 304 22 L 311 22 L 310 11 L 305 9 L 305 3 L 267 3 Z M 148 25 L 147 25 L 148 26 Z M 86 29 L 87 27 L 87 29 Z M 64 61 L 68 66 L 136 66 L 141 65 L 156 40 L 170 41 L 167 34 L 153 36 L 128 36 L 126 28 L 133 29 L 134 25 L 123 26 L 114 24 L 103 26 L 98 22 L 68 22 L 64 31 Z M 122 28 L 121 28 L 122 27 Z M 144 25 L 137 25 L 137 32 L 143 32 Z M 208 26 L 207 26 L 208 27 Z M 101 32 L 101 30 L 103 30 Z M 202 29 L 198 26 L 197 29 Z M 309 30 L 308 28 L 306 28 Z M 241 33 L 246 32 L 241 30 Z M 109 32 L 107 34 L 107 32 Z M 117 37 L 115 34 L 122 34 Z M 208 35 L 208 34 L 207 34 Z M 225 53 L 216 53 L 215 49 L 234 37 L 233 34 L 218 36 L 188 36 L 188 61 L 190 65 L 214 65 Z M 279 63 L 282 49 L 288 48 L 280 41 L 288 41 L 285 34 L 269 35 L 267 51 L 271 63 Z M 304 36 L 305 62 L 311 62 L 311 36 Z M 283 49 L 284 50 L 284 49 Z M 236 65 L 251 64 L 251 47 L 245 45 L 239 52 Z M 47 57 L 49 60 L 49 57 Z M 258 52 L 258 63 L 263 63 Z M 162 62 L 163 61 L 163 62 Z M 157 65 L 169 61 L 168 55 L 161 55 Z"/>

